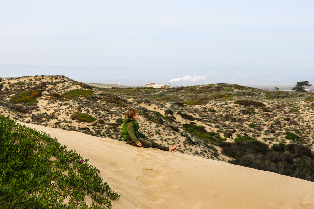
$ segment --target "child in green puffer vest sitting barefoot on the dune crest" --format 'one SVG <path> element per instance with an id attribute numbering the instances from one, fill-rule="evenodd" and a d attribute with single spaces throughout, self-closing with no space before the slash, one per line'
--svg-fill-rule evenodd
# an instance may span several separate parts
<path id="1" fill-rule="evenodd" d="M 160 144 L 157 144 L 153 140 L 147 138 L 143 133 L 139 132 L 139 125 L 137 119 L 138 119 L 138 110 L 135 108 L 130 108 L 127 113 L 125 114 L 126 118 L 123 119 L 122 123 L 122 136 L 123 141 L 125 141 L 127 144 L 130 144 L 132 146 L 136 147 L 152 147 L 152 148 L 158 148 L 164 151 L 174 151 L 176 150 L 177 146 L 175 147 L 165 147 Z"/>

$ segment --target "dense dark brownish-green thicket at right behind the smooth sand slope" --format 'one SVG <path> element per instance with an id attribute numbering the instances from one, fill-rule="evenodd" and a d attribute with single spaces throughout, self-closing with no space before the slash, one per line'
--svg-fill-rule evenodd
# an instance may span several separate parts
<path id="1" fill-rule="evenodd" d="M 314 181 L 314 155 L 301 144 L 279 143 L 269 149 L 267 144 L 255 140 L 222 142 L 220 147 L 234 158 L 229 161 L 232 164 Z"/>

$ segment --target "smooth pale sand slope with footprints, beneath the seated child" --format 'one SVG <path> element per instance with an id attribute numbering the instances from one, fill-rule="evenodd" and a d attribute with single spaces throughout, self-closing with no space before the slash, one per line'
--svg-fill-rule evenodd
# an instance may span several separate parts
<path id="1" fill-rule="evenodd" d="M 21 123 L 56 137 L 100 169 L 113 208 L 314 208 L 314 183 L 179 152 L 133 147 Z"/>

